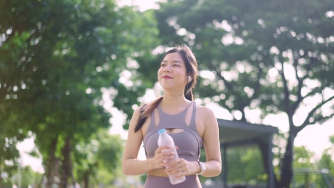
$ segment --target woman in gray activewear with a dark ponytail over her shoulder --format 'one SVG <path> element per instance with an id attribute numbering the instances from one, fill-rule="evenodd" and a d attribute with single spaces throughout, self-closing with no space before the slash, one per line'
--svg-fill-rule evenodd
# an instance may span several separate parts
<path id="1" fill-rule="evenodd" d="M 126 175 L 147 173 L 144 188 L 201 188 L 198 174 L 213 177 L 221 172 L 217 119 L 208 107 L 192 102 L 197 76 L 197 61 L 188 46 L 172 48 L 158 70 L 164 95 L 133 113 L 122 169 Z M 158 146 L 158 130 L 162 128 L 173 137 L 179 159 L 168 160 L 173 153 L 166 152 L 167 146 Z M 137 160 L 142 142 L 145 161 Z M 202 144 L 205 163 L 199 161 Z M 172 185 L 168 175 L 185 175 L 186 181 Z"/>

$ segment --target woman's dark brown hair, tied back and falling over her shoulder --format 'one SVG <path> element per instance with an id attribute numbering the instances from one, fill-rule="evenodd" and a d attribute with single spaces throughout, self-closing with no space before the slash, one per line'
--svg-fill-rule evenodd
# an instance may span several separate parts
<path id="1" fill-rule="evenodd" d="M 196 80 L 197 80 L 197 76 L 198 76 L 196 58 L 195 58 L 194 54 L 192 53 L 192 51 L 189 49 L 189 47 L 185 44 L 183 44 L 181 46 L 176 45 L 174 48 L 168 50 L 164 54 L 163 60 L 166 57 L 166 55 L 170 54 L 170 53 L 179 53 L 181 55 L 183 61 L 185 62 L 186 70 L 187 70 L 187 77 L 188 76 L 191 77 L 191 80 L 188 82 L 188 84 L 186 84 L 186 87 L 185 87 L 185 97 L 189 101 L 193 101 L 192 90 L 195 88 Z M 163 99 L 163 97 L 159 97 L 159 98 L 155 99 L 152 103 L 143 104 L 140 107 L 139 119 L 138 119 L 136 127 L 134 128 L 135 132 L 137 132 L 138 130 L 140 130 L 142 128 L 142 126 L 146 122 L 147 117 L 153 112 L 153 110 L 162 101 L 162 99 Z"/>

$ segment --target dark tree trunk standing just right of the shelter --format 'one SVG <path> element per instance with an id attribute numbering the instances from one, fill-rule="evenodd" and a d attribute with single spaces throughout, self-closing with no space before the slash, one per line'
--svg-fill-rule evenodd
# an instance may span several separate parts
<path id="1" fill-rule="evenodd" d="M 281 166 L 281 180 L 278 188 L 289 188 L 292 180 L 292 161 L 293 161 L 293 142 L 294 133 L 290 131 L 286 152 L 282 160 Z"/>

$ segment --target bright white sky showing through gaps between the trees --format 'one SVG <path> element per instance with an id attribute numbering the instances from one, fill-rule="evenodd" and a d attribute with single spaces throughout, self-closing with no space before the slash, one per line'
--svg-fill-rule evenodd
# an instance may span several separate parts
<path id="1" fill-rule="evenodd" d="M 123 5 L 137 5 L 139 6 L 139 10 L 145 11 L 146 9 L 150 8 L 159 8 L 158 5 L 155 4 L 158 0 L 117 0 L 121 6 Z M 290 74 L 294 75 L 294 74 Z M 159 86 L 158 90 L 159 90 Z M 333 95 L 333 91 L 326 91 L 328 95 Z M 156 96 L 154 94 L 153 90 L 148 90 L 146 95 L 143 97 L 144 101 L 151 101 Z M 127 138 L 127 131 L 123 129 L 123 124 L 125 122 L 125 116 L 120 111 L 118 111 L 116 108 L 110 107 L 112 106 L 112 101 L 108 99 L 108 94 L 105 93 L 104 95 L 104 106 L 108 107 L 108 111 L 112 114 L 113 118 L 111 118 L 110 122 L 112 124 L 112 127 L 110 128 L 109 132 L 111 134 L 120 134 L 123 139 L 126 140 Z M 310 109 L 311 104 L 314 101 L 309 102 L 310 104 L 306 104 L 305 108 L 299 110 L 298 113 L 295 116 L 294 121 L 300 122 L 304 120 L 305 114 Z M 231 120 L 231 115 L 224 110 L 223 108 L 219 107 L 216 104 L 208 104 L 209 108 L 211 108 L 215 113 L 217 118 L 221 119 L 228 119 Z M 251 123 L 258 123 L 259 119 L 258 117 L 259 112 L 258 110 L 249 110 L 247 112 L 247 116 L 255 117 L 255 119 L 252 119 Z M 281 131 L 288 131 L 288 119 L 285 114 L 276 114 L 276 115 L 269 115 L 263 120 L 263 124 L 265 125 L 272 125 L 279 128 Z M 322 151 L 325 148 L 330 147 L 329 142 L 329 136 L 334 135 L 334 118 L 327 121 L 323 125 L 309 125 L 306 128 L 304 128 L 301 132 L 298 133 L 297 137 L 295 138 L 294 146 L 306 146 L 309 148 L 310 151 L 313 151 L 316 153 L 317 156 L 320 156 Z M 43 172 L 43 168 L 41 165 L 42 159 L 36 159 L 28 154 L 26 152 L 29 152 L 34 147 L 34 138 L 26 139 L 21 144 L 18 144 L 18 149 L 20 150 L 21 156 L 22 156 L 22 164 L 30 165 L 35 171 Z M 333 148 L 334 149 L 334 148 Z M 145 152 L 143 147 L 140 149 L 139 159 L 145 159 Z"/>

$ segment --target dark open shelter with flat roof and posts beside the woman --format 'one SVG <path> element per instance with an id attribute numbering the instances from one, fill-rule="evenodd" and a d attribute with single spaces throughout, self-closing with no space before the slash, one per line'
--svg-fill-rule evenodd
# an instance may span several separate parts
<path id="1" fill-rule="evenodd" d="M 226 151 L 229 147 L 256 144 L 259 146 L 264 166 L 268 173 L 268 188 L 274 188 L 274 174 L 272 170 L 272 135 L 278 128 L 270 125 L 250 124 L 241 121 L 217 119 L 219 126 L 220 147 L 222 150 L 222 181 L 227 188 L 227 160 Z"/>

